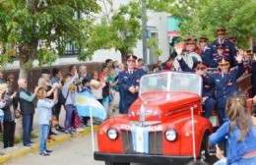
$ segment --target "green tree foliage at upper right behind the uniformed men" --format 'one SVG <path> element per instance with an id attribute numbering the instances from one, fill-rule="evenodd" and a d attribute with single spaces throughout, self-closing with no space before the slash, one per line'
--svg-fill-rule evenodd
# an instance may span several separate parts
<path id="1" fill-rule="evenodd" d="M 227 36 L 236 36 L 238 47 L 244 48 L 246 37 L 256 35 L 255 0 L 165 1 L 168 1 L 168 8 L 161 9 L 181 20 L 179 27 L 184 38 L 205 35 L 213 40 L 217 28 L 225 27 Z"/>

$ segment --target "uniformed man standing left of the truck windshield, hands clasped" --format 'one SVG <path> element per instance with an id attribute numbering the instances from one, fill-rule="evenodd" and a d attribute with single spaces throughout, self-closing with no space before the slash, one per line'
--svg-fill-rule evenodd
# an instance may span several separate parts
<path id="1" fill-rule="evenodd" d="M 137 57 L 130 55 L 126 57 L 127 69 L 119 73 L 118 83 L 123 89 L 121 95 L 124 101 L 124 111 L 127 114 L 131 104 L 138 98 L 139 84 L 141 77 L 145 74 L 143 69 L 135 68 Z"/>

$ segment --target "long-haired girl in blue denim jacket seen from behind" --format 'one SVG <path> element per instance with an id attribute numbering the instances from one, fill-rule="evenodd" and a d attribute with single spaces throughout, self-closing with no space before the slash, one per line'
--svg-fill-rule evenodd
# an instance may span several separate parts
<path id="1" fill-rule="evenodd" d="M 210 147 L 226 138 L 226 164 L 252 165 L 256 162 L 256 128 L 247 113 L 246 98 L 231 95 L 225 104 L 227 122 L 210 136 Z"/>

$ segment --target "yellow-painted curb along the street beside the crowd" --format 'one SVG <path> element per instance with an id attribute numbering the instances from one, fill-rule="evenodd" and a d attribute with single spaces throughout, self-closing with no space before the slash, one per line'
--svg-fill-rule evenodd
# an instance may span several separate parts
<path id="1" fill-rule="evenodd" d="M 94 131 L 96 131 L 97 128 L 98 128 L 98 126 L 94 126 Z M 47 147 L 55 146 L 59 143 L 71 140 L 71 138 L 85 137 L 89 133 L 91 133 L 91 128 L 86 128 L 83 132 L 76 133 L 73 136 L 60 135 L 60 136 L 55 137 L 55 140 L 51 140 L 50 142 L 47 142 Z M 38 150 L 39 150 L 39 143 L 32 144 L 32 147 L 23 146 L 21 148 L 17 148 L 15 150 L 12 150 L 12 151 L 4 154 L 3 156 L 1 156 L 0 164 L 6 163 L 7 161 L 9 161 L 11 159 L 24 157 L 26 154 L 28 154 L 30 152 L 36 152 Z"/>

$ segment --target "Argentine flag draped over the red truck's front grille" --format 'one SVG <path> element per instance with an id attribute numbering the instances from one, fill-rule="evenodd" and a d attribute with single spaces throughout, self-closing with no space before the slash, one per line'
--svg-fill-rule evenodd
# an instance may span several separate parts
<path id="1" fill-rule="evenodd" d="M 132 126 L 133 149 L 140 153 L 149 153 L 149 126 Z"/>

